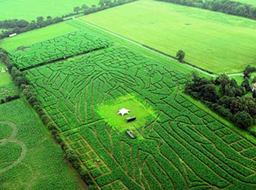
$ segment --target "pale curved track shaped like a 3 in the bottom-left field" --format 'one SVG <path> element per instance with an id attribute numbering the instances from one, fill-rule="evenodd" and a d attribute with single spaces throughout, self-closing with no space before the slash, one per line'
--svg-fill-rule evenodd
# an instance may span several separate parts
<path id="1" fill-rule="evenodd" d="M 25 144 L 22 141 L 15 139 L 16 134 L 18 134 L 18 128 L 13 122 L 0 121 L 0 124 L 8 124 L 11 127 L 13 127 L 13 133 L 11 134 L 11 136 L 6 139 L 0 140 L 0 146 L 3 144 L 6 144 L 6 143 L 17 143 L 22 147 L 22 153 L 20 154 L 20 157 L 15 162 L 11 163 L 11 165 L 9 165 L 8 167 L 1 169 L 0 170 L 0 175 L 1 175 L 3 172 L 10 170 L 10 168 L 12 168 L 15 165 L 17 165 L 18 163 L 22 162 L 23 158 L 25 157 L 25 155 L 27 153 L 27 147 L 25 146 Z"/>

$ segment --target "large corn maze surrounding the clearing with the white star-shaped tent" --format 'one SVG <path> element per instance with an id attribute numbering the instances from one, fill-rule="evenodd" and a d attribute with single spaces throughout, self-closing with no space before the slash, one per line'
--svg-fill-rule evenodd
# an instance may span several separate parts
<path id="1" fill-rule="evenodd" d="M 24 68 L 49 60 L 36 57 L 16 62 Z M 99 189 L 256 188 L 255 144 L 182 96 L 188 77 L 171 66 L 112 46 L 25 73 Z M 129 94 L 157 113 L 136 128 L 137 139 L 98 114 L 99 106 Z"/>

